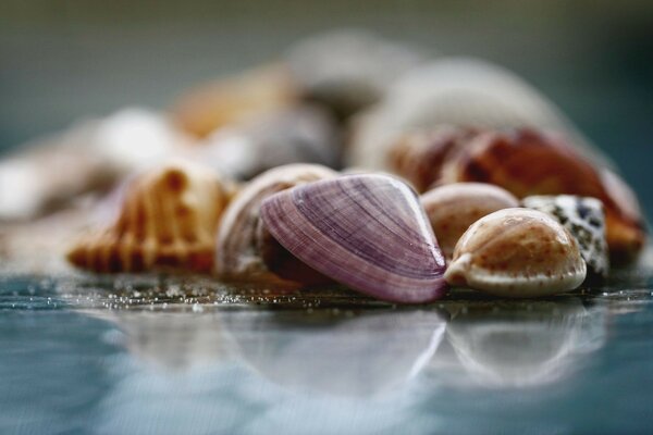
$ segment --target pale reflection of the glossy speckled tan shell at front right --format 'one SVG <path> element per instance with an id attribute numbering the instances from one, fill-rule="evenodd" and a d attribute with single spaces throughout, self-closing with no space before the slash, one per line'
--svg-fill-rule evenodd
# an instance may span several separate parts
<path id="1" fill-rule="evenodd" d="M 578 299 L 467 307 L 447 325 L 446 335 L 475 381 L 522 388 L 578 370 L 579 358 L 605 341 L 604 311 L 587 310 Z"/>

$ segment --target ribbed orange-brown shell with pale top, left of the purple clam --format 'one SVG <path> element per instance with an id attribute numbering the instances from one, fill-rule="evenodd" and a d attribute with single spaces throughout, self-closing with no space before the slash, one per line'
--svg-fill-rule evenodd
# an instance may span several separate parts
<path id="1" fill-rule="evenodd" d="M 67 259 L 94 272 L 210 272 L 232 195 L 230 183 L 194 163 L 152 169 L 126 187 L 118 220 L 81 237 Z"/>

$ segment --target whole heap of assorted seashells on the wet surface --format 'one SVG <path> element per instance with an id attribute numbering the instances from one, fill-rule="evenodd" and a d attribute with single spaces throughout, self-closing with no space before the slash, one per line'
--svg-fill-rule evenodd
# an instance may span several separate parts
<path id="1" fill-rule="evenodd" d="M 0 162 L 0 222 L 113 188 L 89 201 L 114 219 L 67 248 L 94 273 L 340 284 L 403 303 L 460 286 L 528 298 L 603 279 L 646 243 L 632 190 L 537 90 L 367 33 L 74 132 Z"/>

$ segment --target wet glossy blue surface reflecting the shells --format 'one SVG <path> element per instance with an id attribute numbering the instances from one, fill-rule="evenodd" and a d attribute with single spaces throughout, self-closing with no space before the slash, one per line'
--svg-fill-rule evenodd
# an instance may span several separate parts
<path id="1" fill-rule="evenodd" d="M 429 306 L 162 276 L 0 279 L 1 434 L 603 434 L 653 424 L 653 273 Z"/>

